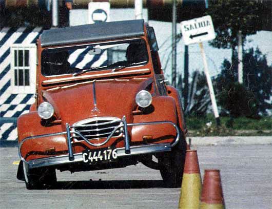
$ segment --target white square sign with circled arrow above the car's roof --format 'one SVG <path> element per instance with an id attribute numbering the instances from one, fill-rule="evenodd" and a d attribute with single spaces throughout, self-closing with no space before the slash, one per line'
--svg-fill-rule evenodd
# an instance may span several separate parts
<path id="1" fill-rule="evenodd" d="M 108 2 L 90 2 L 88 4 L 89 23 L 109 22 L 109 11 Z"/>

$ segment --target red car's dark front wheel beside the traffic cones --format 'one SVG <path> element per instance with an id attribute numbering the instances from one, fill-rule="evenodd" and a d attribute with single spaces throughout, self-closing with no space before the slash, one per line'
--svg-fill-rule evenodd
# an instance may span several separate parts
<path id="1" fill-rule="evenodd" d="M 159 158 L 161 176 L 167 187 L 181 187 L 185 155 L 186 142 L 181 138 L 171 152 L 164 153 Z"/>

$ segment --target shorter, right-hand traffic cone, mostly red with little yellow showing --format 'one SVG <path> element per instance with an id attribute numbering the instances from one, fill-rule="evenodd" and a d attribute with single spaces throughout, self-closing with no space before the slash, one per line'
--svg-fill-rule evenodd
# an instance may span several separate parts
<path id="1" fill-rule="evenodd" d="M 224 197 L 219 170 L 205 170 L 200 208 L 224 209 Z"/>

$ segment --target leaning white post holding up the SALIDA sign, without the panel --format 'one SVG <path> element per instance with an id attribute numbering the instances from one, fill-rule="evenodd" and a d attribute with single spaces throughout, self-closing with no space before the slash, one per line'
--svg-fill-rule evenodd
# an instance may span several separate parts
<path id="1" fill-rule="evenodd" d="M 213 113 L 215 114 L 215 117 L 216 117 L 216 124 L 217 124 L 217 126 L 220 126 L 220 118 L 219 118 L 219 114 L 218 114 L 215 92 L 213 91 L 211 78 L 210 78 L 210 74 L 209 74 L 209 70 L 208 70 L 207 59 L 206 59 L 206 55 L 205 55 L 205 51 L 204 51 L 202 42 L 199 43 L 199 47 L 200 47 L 201 56 L 203 59 L 204 72 L 205 72 L 207 83 L 208 83 L 212 110 L 213 110 Z"/>

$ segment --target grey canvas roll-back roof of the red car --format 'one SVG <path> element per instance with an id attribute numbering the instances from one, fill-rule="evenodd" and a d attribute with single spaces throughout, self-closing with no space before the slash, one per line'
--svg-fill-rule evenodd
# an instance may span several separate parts
<path id="1" fill-rule="evenodd" d="M 124 20 L 45 30 L 42 47 L 80 44 L 144 35 L 144 20 Z"/>

